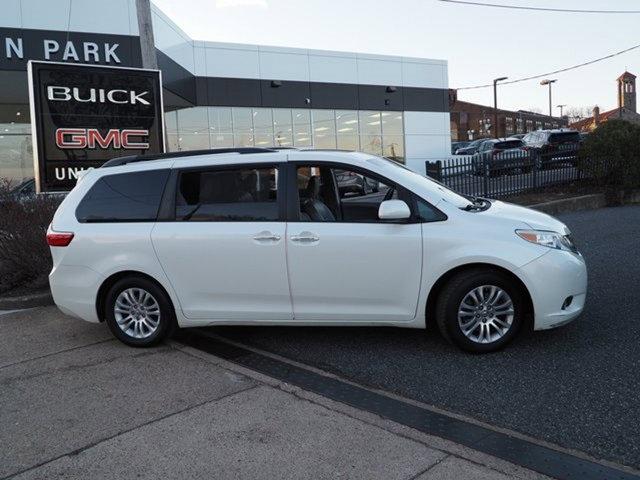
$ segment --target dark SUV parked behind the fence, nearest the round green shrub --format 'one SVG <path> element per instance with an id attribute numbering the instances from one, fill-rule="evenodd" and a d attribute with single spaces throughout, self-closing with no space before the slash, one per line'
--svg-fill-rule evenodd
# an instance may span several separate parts
<path id="1" fill-rule="evenodd" d="M 525 149 L 531 152 L 538 166 L 552 163 L 577 163 L 578 148 L 582 139 L 576 130 L 538 130 L 527 133 L 522 139 Z"/>

